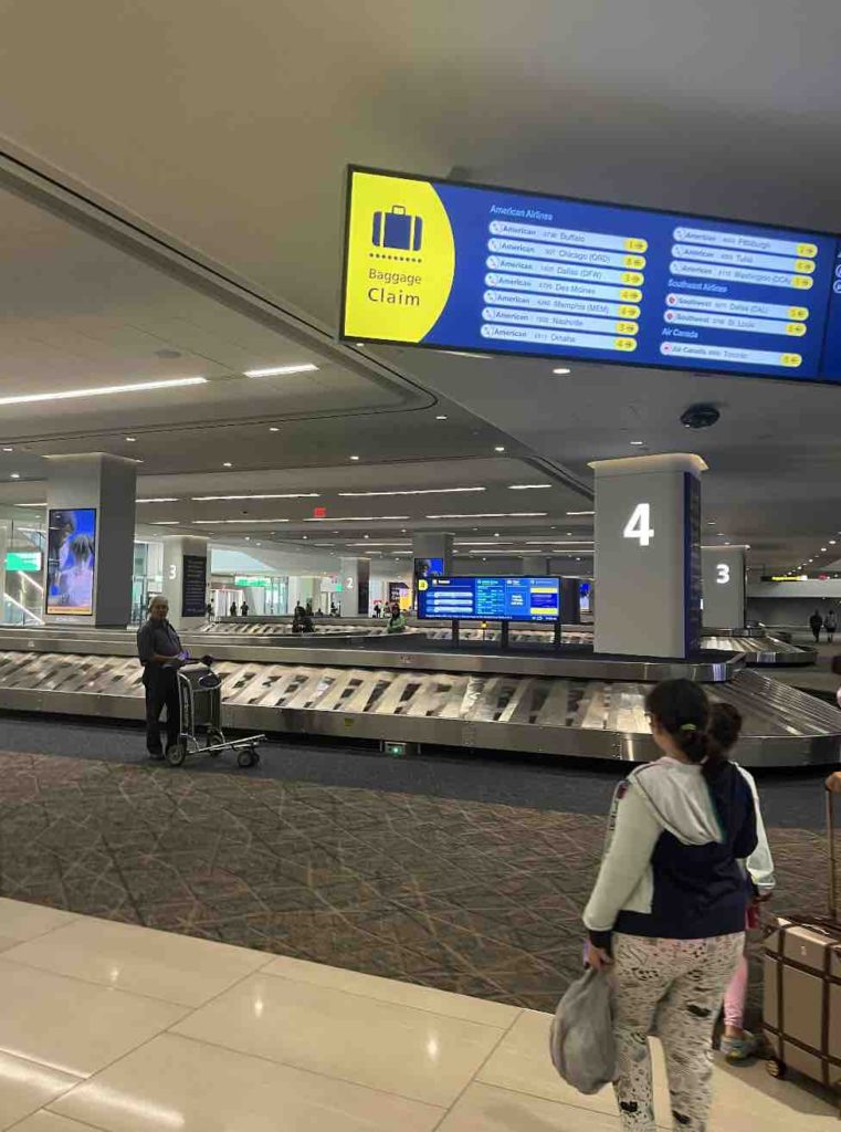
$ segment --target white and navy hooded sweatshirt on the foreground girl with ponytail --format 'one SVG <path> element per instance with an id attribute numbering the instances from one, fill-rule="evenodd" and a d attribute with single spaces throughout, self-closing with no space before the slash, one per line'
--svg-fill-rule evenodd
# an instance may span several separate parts
<path id="1" fill-rule="evenodd" d="M 735 763 L 712 782 L 668 756 L 633 771 L 613 796 L 584 911 L 591 941 L 609 947 L 615 931 L 667 940 L 743 932 L 756 814 L 750 777 Z"/>

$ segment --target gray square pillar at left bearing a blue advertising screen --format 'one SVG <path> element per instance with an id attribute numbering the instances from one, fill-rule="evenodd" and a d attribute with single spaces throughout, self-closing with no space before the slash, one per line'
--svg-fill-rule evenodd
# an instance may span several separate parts
<path id="1" fill-rule="evenodd" d="M 50 456 L 49 460 L 48 561 L 44 586 L 46 601 L 52 606 L 53 612 L 46 615 L 46 621 L 125 626 L 131 615 L 137 465 L 134 460 L 100 452 L 78 456 Z M 87 591 L 81 577 L 84 561 L 81 558 L 77 561 L 72 552 L 68 555 L 68 542 L 74 537 L 72 513 L 79 511 L 95 512 L 95 549 L 91 564 L 93 586 Z M 49 560 L 51 515 L 54 520 L 53 548 L 60 556 L 53 556 L 52 571 Z M 87 517 L 79 517 L 79 523 L 86 526 Z M 68 575 L 72 571 L 77 574 L 71 582 L 72 600 L 67 600 L 63 604 L 68 609 L 78 609 L 84 604 L 91 609 L 89 612 L 58 611 L 62 603 L 59 591 L 67 589 Z M 65 578 L 60 577 L 62 574 Z"/>

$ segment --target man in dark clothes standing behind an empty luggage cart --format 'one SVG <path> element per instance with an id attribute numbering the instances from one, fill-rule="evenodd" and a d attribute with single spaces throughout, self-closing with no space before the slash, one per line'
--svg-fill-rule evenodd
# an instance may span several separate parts
<path id="1" fill-rule="evenodd" d="M 137 655 L 143 664 L 146 689 L 146 748 L 149 758 L 164 757 L 161 747 L 161 712 L 166 707 L 166 749 L 178 743 L 181 709 L 178 702 L 178 675 L 186 654 L 178 633 L 166 620 L 170 603 L 162 594 L 149 602 L 148 619 L 137 631 Z"/>

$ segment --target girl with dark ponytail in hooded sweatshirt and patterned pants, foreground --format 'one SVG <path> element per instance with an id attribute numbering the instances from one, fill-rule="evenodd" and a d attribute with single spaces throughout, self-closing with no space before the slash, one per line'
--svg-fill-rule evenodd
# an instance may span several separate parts
<path id="1" fill-rule="evenodd" d="M 713 1027 L 744 952 L 744 861 L 757 843 L 756 806 L 748 777 L 728 758 L 736 720 L 712 709 L 700 685 L 667 680 L 645 706 L 661 755 L 634 770 L 613 797 L 584 911 L 587 962 L 607 968 L 615 987 L 624 1132 L 655 1130 L 647 1040 L 654 1027 L 675 1126 L 705 1132 Z"/>

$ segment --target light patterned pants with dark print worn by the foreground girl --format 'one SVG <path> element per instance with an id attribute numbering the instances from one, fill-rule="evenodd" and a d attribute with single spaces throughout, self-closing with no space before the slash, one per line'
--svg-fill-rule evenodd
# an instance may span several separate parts
<path id="1" fill-rule="evenodd" d="M 655 1132 L 649 1034 L 657 1026 L 675 1129 L 706 1132 L 712 1034 L 739 964 L 743 932 L 710 940 L 613 935 L 616 1098 L 624 1132 Z"/>

